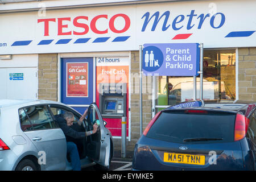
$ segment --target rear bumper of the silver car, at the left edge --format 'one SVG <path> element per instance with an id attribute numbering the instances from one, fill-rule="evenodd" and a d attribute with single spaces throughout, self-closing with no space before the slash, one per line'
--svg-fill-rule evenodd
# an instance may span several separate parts
<path id="1" fill-rule="evenodd" d="M 0 171 L 14 170 L 14 164 L 18 157 L 12 150 L 0 151 Z"/>

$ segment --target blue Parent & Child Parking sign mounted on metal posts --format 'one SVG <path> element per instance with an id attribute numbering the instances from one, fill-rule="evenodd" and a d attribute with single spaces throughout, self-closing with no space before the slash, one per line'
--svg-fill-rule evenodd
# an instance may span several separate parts
<path id="1" fill-rule="evenodd" d="M 199 43 L 144 44 L 142 69 L 145 75 L 197 76 Z"/>

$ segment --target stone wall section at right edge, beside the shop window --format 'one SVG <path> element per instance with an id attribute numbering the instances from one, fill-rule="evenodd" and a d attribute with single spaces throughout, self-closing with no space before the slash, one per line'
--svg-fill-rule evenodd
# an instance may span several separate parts
<path id="1" fill-rule="evenodd" d="M 256 48 L 238 49 L 239 100 L 256 101 Z"/>

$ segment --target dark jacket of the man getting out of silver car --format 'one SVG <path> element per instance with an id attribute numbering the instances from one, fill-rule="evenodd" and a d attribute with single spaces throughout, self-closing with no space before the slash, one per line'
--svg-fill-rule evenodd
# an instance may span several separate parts
<path id="1" fill-rule="evenodd" d="M 55 115 L 55 120 L 63 131 L 67 142 L 71 142 L 73 139 L 85 137 L 85 132 L 77 132 L 67 125 L 67 121 L 64 119 L 63 114 Z"/>

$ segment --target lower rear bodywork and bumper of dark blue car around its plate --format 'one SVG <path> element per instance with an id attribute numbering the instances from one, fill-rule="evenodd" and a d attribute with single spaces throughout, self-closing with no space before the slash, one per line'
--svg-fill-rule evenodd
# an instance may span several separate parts
<path id="1" fill-rule="evenodd" d="M 138 144 L 141 142 L 140 144 Z M 240 142 L 232 143 L 217 143 L 217 144 L 187 144 L 188 151 L 174 151 L 174 148 L 179 150 L 179 144 L 168 143 L 160 140 L 144 138 L 135 145 L 133 157 L 133 169 L 146 171 L 184 171 L 184 170 L 245 170 L 243 167 L 242 151 Z M 143 143 L 143 144 L 142 144 Z M 153 147 L 158 146 L 158 147 Z M 165 147 L 165 148 L 164 148 Z M 160 148 L 160 149 L 157 149 Z M 190 151 L 189 151 L 190 149 Z M 204 151 L 204 152 L 203 152 Z M 210 152 L 206 152 L 210 151 Z M 214 155 L 211 152 L 216 152 Z M 203 155 L 205 157 L 204 164 L 196 163 L 177 163 L 179 158 L 176 158 L 176 163 L 164 160 L 164 154 L 185 154 L 187 155 Z M 170 154 L 170 155 L 171 155 Z M 185 157 L 184 157 L 185 158 Z M 194 158 L 194 157 L 193 157 Z M 194 158 L 195 159 L 195 158 Z"/>

